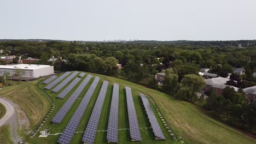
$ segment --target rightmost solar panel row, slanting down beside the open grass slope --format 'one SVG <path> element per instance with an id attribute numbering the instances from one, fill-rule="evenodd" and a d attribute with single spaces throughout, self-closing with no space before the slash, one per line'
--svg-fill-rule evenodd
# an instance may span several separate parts
<path id="1" fill-rule="evenodd" d="M 165 135 L 162 133 L 158 120 L 155 117 L 155 114 L 150 106 L 147 97 L 144 94 L 141 94 L 142 103 L 146 109 L 146 113 L 148 115 L 149 122 L 153 129 L 153 133 L 155 135 L 155 139 L 165 140 Z"/>

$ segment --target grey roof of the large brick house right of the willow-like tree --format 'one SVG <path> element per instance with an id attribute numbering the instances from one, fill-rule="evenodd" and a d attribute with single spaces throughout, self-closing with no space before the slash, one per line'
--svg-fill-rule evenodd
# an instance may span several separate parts
<path id="1" fill-rule="evenodd" d="M 235 91 L 238 91 L 237 87 L 234 86 L 229 86 L 229 85 L 225 85 L 225 83 L 229 81 L 228 78 L 224 78 L 224 77 L 216 77 L 213 79 L 206 79 L 206 85 L 210 85 L 212 87 L 216 87 L 216 88 L 220 88 L 220 89 L 224 89 L 225 87 L 231 87 L 234 88 Z"/>

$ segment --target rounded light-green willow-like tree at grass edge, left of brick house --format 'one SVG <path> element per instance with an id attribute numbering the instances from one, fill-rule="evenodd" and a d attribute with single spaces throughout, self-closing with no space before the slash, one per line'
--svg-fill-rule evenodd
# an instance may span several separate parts
<path id="1" fill-rule="evenodd" d="M 185 75 L 181 81 L 176 97 L 178 99 L 194 102 L 197 97 L 196 92 L 201 92 L 205 84 L 205 80 L 201 76 L 194 74 Z"/>

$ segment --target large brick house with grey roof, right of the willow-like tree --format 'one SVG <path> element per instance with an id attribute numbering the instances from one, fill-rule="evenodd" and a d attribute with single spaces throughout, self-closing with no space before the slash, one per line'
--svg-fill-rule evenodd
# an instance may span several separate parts
<path id="1" fill-rule="evenodd" d="M 216 78 L 212 78 L 212 79 L 205 79 L 206 85 L 203 88 L 203 91 L 210 92 L 210 90 L 213 89 L 214 92 L 216 92 L 219 95 L 222 95 L 224 88 L 231 87 L 231 88 L 234 88 L 235 91 L 237 92 L 238 91 L 237 87 L 225 85 L 225 83 L 227 81 L 229 81 L 229 79 L 224 78 L 224 77 L 216 77 Z"/>

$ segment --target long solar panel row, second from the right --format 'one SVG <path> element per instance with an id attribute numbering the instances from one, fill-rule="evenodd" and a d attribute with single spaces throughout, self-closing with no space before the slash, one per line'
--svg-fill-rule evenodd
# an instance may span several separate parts
<path id="1" fill-rule="evenodd" d="M 125 87 L 125 91 L 126 91 L 126 101 L 127 101 L 127 108 L 128 108 L 131 139 L 132 139 L 132 141 L 142 141 L 141 133 L 139 131 L 137 115 L 136 115 L 136 111 L 135 111 L 135 106 L 134 106 L 133 99 L 132 99 L 131 88 Z"/>

